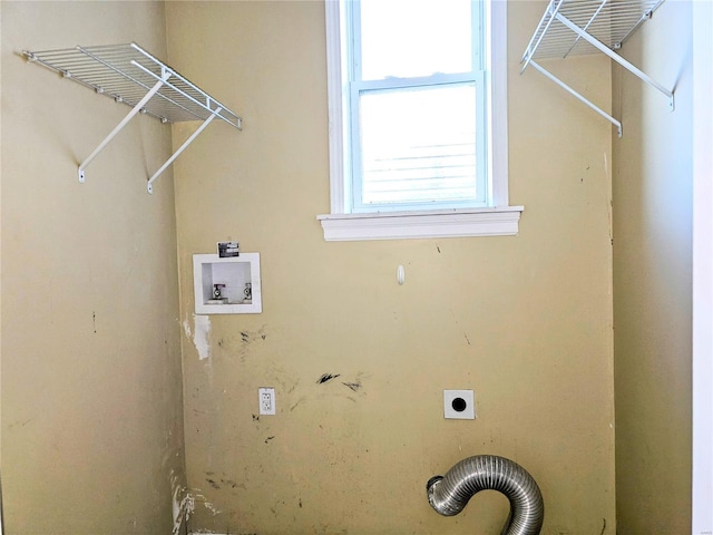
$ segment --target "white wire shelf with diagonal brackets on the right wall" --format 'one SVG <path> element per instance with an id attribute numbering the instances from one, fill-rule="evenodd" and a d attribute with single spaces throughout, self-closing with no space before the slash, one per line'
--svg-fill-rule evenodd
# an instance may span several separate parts
<path id="1" fill-rule="evenodd" d="M 673 91 L 658 84 L 616 50 L 648 20 L 665 0 L 550 0 L 522 55 L 524 72 L 528 66 L 555 81 L 593 110 L 608 119 L 622 137 L 622 124 L 586 97 L 547 71 L 538 61 L 568 56 L 602 52 L 617 61 L 644 82 L 668 97 L 673 110 Z"/>

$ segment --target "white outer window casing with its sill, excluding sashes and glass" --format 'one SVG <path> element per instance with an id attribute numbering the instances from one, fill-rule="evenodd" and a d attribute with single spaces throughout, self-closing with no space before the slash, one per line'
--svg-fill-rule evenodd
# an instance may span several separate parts
<path id="1" fill-rule="evenodd" d="M 413 212 L 346 213 L 349 152 L 344 147 L 343 6 L 325 0 L 331 213 L 318 215 L 326 241 L 515 235 L 522 206 L 508 200 L 507 1 L 485 0 L 489 206 Z"/>

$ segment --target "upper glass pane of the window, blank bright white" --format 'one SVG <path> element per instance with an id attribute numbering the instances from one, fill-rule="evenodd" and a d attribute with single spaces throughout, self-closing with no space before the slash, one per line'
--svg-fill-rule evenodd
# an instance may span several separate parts
<path id="1" fill-rule="evenodd" d="M 472 70 L 470 0 L 361 0 L 362 79 Z"/>

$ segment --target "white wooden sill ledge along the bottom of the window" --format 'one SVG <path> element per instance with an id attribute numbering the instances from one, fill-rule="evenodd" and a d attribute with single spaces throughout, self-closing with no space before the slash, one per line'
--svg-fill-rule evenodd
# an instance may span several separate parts
<path id="1" fill-rule="evenodd" d="M 318 215 L 328 242 L 514 236 L 522 206 L 433 212 Z"/>

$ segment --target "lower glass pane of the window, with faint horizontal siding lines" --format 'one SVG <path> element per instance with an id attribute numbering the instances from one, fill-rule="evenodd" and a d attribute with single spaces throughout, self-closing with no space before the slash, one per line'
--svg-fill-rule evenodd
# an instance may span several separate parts
<path id="1" fill-rule="evenodd" d="M 362 93 L 362 204 L 478 201 L 476 120 L 471 82 Z"/>

